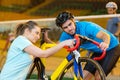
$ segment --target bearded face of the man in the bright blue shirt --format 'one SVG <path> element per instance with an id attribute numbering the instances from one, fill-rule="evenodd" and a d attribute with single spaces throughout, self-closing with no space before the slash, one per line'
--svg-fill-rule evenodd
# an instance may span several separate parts
<path id="1" fill-rule="evenodd" d="M 70 34 L 70 35 L 73 35 L 75 34 L 75 23 L 73 20 L 69 19 L 67 20 L 63 25 L 62 25 L 62 29 Z"/>

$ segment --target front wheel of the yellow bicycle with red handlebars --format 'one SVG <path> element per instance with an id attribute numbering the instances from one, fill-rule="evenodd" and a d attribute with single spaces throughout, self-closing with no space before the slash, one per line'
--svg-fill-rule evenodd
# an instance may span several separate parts
<path id="1" fill-rule="evenodd" d="M 84 68 L 86 63 L 93 64 L 98 70 L 101 80 L 106 80 L 106 76 L 102 67 L 96 61 L 87 57 L 81 57 L 79 58 L 78 62 L 81 63 L 82 68 Z M 63 71 L 58 77 L 58 80 L 65 80 L 64 78 L 66 77 L 69 78 L 69 80 L 74 80 L 73 60 L 70 61 L 69 64 L 63 69 Z M 77 76 L 77 80 L 81 80 L 80 75 Z"/>

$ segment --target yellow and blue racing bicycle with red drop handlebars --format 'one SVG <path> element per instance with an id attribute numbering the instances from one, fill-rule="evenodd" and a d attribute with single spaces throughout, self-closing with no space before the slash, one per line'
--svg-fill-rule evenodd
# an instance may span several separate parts
<path id="1" fill-rule="evenodd" d="M 90 41 L 91 43 L 97 46 L 99 46 L 99 43 L 92 39 L 80 35 L 75 36 L 75 39 L 76 39 L 75 47 L 74 48 L 65 47 L 68 51 L 70 51 L 70 54 L 67 55 L 67 57 L 63 60 L 63 62 L 52 73 L 52 75 L 49 77 L 49 80 L 64 80 L 65 77 L 69 77 L 70 79 L 74 79 L 74 80 L 82 80 L 83 64 L 85 65 L 88 62 L 96 67 L 96 69 L 99 72 L 101 80 L 106 80 L 106 76 L 102 67 L 95 61 L 95 60 L 101 60 L 105 56 L 106 51 L 103 51 L 102 55 L 100 57 L 94 58 L 94 60 L 88 57 L 81 57 L 80 53 L 77 51 L 78 46 L 80 45 L 80 39 L 84 41 L 85 40 Z M 45 80 L 45 66 L 40 58 L 35 58 L 32 68 L 29 74 L 27 75 L 26 79 L 30 78 L 35 67 L 37 68 L 38 71 L 38 79 Z"/>

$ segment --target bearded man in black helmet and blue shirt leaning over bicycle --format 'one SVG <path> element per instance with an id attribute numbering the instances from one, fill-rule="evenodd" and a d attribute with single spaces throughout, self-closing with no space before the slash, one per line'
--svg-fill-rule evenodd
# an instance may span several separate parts
<path id="1" fill-rule="evenodd" d="M 99 64 L 102 66 L 106 75 L 111 72 L 120 56 L 119 41 L 113 34 L 95 23 L 75 21 L 74 16 L 70 12 L 61 12 L 58 14 L 56 25 L 63 29 L 60 42 L 74 38 L 75 34 L 86 36 L 99 42 L 100 48 L 90 42 L 85 42 L 80 47 L 92 51 L 92 58 L 100 55 L 102 50 L 106 50 L 107 55 L 103 60 L 99 61 Z M 91 64 L 87 64 L 84 68 L 84 80 L 89 80 L 92 75 L 95 76 L 96 80 L 99 79 L 96 69 Z"/>

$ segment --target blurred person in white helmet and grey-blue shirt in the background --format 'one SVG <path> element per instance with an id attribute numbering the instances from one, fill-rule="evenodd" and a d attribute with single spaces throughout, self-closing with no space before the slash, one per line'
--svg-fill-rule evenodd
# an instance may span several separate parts
<path id="1" fill-rule="evenodd" d="M 117 14 L 118 7 L 115 2 L 108 2 L 106 4 L 106 9 L 108 14 Z M 107 30 L 113 33 L 119 39 L 120 38 L 120 17 L 110 18 L 107 23 Z"/>

